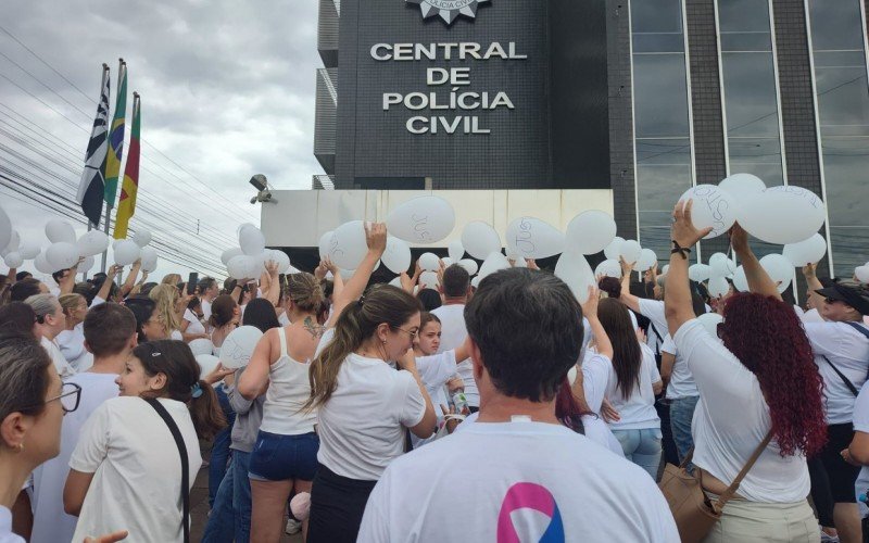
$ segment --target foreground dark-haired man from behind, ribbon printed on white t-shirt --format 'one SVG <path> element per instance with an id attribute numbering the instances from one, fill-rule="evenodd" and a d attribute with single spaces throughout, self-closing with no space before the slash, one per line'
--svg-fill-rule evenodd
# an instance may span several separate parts
<path id="1" fill-rule="evenodd" d="M 678 542 L 645 471 L 555 417 L 582 345 L 570 289 L 551 274 L 504 269 L 481 281 L 465 318 L 479 418 L 393 460 L 358 541 Z"/>

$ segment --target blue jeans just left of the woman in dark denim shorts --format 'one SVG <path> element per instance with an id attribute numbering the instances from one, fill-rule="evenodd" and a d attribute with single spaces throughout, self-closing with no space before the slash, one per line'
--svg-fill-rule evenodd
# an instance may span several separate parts
<path id="1" fill-rule="evenodd" d="M 251 536 L 250 453 L 232 451 L 229 469 L 217 490 L 202 543 L 238 543 Z"/>

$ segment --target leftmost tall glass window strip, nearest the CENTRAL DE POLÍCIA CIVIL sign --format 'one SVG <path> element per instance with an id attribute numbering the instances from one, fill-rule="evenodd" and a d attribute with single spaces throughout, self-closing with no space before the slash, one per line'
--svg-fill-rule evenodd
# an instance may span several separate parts
<path id="1" fill-rule="evenodd" d="M 631 0 L 640 243 L 669 255 L 670 214 L 693 182 L 682 0 Z"/>

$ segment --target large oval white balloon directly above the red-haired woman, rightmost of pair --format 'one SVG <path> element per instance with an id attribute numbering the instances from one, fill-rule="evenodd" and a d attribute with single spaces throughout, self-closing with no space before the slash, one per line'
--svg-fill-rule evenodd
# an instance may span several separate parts
<path id="1" fill-rule="evenodd" d="M 754 194 L 740 210 L 739 223 L 755 238 L 784 245 L 810 238 L 826 214 L 827 206 L 811 191 L 781 186 Z"/>

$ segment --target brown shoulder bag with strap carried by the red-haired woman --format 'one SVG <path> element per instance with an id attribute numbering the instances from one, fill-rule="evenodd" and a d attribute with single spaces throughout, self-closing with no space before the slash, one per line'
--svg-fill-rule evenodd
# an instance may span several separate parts
<path id="1" fill-rule="evenodd" d="M 703 491 L 702 470 L 695 468 L 695 475 L 692 475 L 685 467 L 691 463 L 691 458 L 694 455 L 693 449 L 678 467 L 672 464 L 667 464 L 664 467 L 664 476 L 660 478 L 658 488 L 664 497 L 667 498 L 667 504 L 670 506 L 682 543 L 698 543 L 709 533 L 715 523 L 718 522 L 718 519 L 721 518 L 725 504 L 736 493 L 740 483 L 771 439 L 772 431 L 770 430 L 764 441 L 752 453 L 742 471 L 733 479 L 730 487 L 718 496 L 715 503 Z"/>

